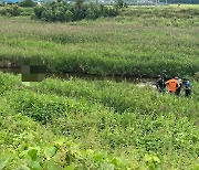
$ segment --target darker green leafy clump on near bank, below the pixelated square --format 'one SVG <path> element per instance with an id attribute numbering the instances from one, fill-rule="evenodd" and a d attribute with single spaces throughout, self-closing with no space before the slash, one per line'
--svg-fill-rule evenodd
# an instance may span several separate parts
<path id="1" fill-rule="evenodd" d="M 18 105 L 15 104 L 17 100 Z M 36 121 L 46 124 L 48 121 L 51 121 L 52 117 L 56 117 L 57 115 L 63 116 L 67 105 L 57 97 L 50 99 L 46 96 L 38 97 L 34 93 L 19 91 L 18 95 L 12 97 L 11 106 L 17 111 L 22 113 Z"/>

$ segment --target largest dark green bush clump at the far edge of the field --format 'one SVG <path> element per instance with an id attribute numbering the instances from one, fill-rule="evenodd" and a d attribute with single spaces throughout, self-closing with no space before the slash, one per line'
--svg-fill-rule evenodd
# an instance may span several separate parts
<path id="1" fill-rule="evenodd" d="M 118 10 L 93 3 L 85 4 L 83 0 L 77 0 L 75 4 L 67 4 L 64 1 L 52 2 L 34 8 L 35 17 L 48 22 L 70 22 L 83 19 L 97 19 L 100 17 L 115 17 Z"/>

